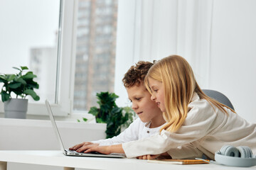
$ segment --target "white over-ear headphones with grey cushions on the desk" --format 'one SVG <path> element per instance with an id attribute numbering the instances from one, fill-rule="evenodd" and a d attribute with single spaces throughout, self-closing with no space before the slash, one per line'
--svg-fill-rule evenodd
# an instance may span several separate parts
<path id="1" fill-rule="evenodd" d="M 249 167 L 256 165 L 256 155 L 252 154 L 250 147 L 224 145 L 215 152 L 215 161 L 228 166 Z"/>

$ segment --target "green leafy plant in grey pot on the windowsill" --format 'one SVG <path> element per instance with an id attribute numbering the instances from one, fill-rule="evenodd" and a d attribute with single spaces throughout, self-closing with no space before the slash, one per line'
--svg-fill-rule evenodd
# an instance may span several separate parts
<path id="1" fill-rule="evenodd" d="M 17 69 L 18 74 L 0 74 L 0 83 L 4 85 L 1 88 L 1 101 L 4 102 L 5 118 L 26 118 L 28 110 L 28 99 L 31 96 L 33 100 L 38 101 L 40 97 L 33 89 L 38 89 L 39 85 L 33 78 L 36 77 L 33 72 L 26 72 L 28 67 L 13 67 Z M 11 94 L 15 94 L 16 98 L 12 98 Z"/>

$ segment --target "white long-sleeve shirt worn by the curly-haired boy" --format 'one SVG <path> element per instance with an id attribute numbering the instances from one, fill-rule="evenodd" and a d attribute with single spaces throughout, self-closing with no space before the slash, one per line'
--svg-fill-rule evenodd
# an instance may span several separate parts
<path id="1" fill-rule="evenodd" d="M 99 143 L 103 145 L 116 145 L 124 142 L 130 142 L 134 140 L 140 140 L 145 137 L 150 137 L 156 133 L 159 133 L 161 126 L 158 128 L 149 128 L 150 123 L 143 123 L 142 120 L 137 118 L 132 122 L 129 127 L 121 132 L 119 135 L 106 140 L 92 141 L 93 143 Z"/>

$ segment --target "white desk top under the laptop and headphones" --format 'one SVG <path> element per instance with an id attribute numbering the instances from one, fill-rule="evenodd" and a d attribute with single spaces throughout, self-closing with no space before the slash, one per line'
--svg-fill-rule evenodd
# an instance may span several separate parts
<path id="1" fill-rule="evenodd" d="M 60 151 L 0 151 L 0 170 L 6 170 L 7 162 L 23 164 L 40 164 L 49 166 L 63 166 L 65 170 L 82 169 L 241 169 L 239 167 L 221 166 L 215 164 L 155 164 L 139 159 L 117 159 L 100 157 L 67 157 Z M 256 169 L 256 166 L 246 168 Z"/>

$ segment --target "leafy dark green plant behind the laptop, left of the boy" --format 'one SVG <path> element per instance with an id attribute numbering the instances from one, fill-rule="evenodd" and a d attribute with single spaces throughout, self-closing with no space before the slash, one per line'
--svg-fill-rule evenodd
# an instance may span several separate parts
<path id="1" fill-rule="evenodd" d="M 132 123 L 134 111 L 130 107 L 119 108 L 115 103 L 119 96 L 114 93 L 101 92 L 96 96 L 100 108 L 91 107 L 88 113 L 95 115 L 97 123 L 107 123 L 107 138 L 119 135 L 122 128 L 127 128 Z"/>

